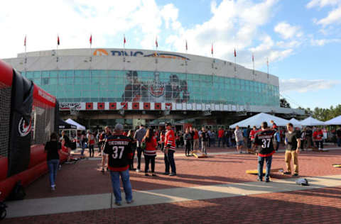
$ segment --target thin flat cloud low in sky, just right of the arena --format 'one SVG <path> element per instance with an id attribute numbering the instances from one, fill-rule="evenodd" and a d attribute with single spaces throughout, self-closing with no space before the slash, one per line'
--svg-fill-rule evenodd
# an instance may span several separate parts
<path id="1" fill-rule="evenodd" d="M 305 93 L 308 91 L 318 91 L 320 89 L 331 89 L 337 84 L 340 84 L 340 82 L 326 79 L 281 79 L 279 88 L 283 92 L 296 91 Z"/>

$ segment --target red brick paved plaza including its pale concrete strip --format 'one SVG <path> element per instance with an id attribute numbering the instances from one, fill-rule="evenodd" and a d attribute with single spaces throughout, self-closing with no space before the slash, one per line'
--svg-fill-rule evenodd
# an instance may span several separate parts
<path id="1" fill-rule="evenodd" d="M 257 182 L 256 156 L 232 149 L 210 149 L 210 157 L 175 155 L 178 176 L 163 176 L 163 155 L 156 159 L 158 177 L 131 172 L 135 202 L 111 205 L 109 173 L 100 160 L 64 164 L 57 190 L 50 192 L 45 175 L 26 189 L 26 199 L 9 202 L 1 223 L 341 223 L 341 150 L 301 152 L 300 176 L 272 174 L 271 183 Z M 144 164 L 142 165 L 144 167 Z M 283 150 L 272 168 L 285 168 Z M 124 194 L 123 194 L 124 195 Z M 112 206 L 112 208 L 111 208 Z"/>

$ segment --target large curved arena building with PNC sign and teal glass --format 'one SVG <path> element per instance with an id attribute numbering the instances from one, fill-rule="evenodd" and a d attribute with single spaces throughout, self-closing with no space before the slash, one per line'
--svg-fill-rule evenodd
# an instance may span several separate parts
<path id="1" fill-rule="evenodd" d="M 265 112 L 294 116 L 279 106 L 278 77 L 212 57 L 131 49 L 66 49 L 5 59 L 60 102 L 62 118 L 99 128 L 229 125 Z M 242 117 L 241 117 L 242 116 Z"/>

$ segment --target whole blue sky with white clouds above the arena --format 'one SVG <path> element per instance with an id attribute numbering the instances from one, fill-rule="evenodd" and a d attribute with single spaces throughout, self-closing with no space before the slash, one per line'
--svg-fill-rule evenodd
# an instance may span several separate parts
<path id="1" fill-rule="evenodd" d="M 341 0 L 6 1 L 0 9 L 0 58 L 27 50 L 122 47 L 210 55 L 279 77 L 292 106 L 340 103 Z M 17 7 L 20 5 L 21 7 Z M 39 7 L 36 7 L 39 6 Z M 15 13 L 13 9 L 16 9 Z M 29 13 L 28 13 L 29 12 Z M 63 13 L 61 13 L 63 12 Z"/>

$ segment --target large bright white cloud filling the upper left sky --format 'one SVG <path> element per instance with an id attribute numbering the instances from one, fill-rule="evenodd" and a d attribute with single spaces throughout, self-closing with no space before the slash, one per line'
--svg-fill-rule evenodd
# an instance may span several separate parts
<path id="1" fill-rule="evenodd" d="M 165 24 L 178 27 L 177 18 L 173 4 L 158 6 L 155 0 L 7 1 L 0 8 L 0 58 L 23 52 L 25 35 L 28 51 L 55 48 L 57 34 L 60 48 L 88 47 L 90 33 L 93 47 L 121 47 L 126 33 L 128 46 L 137 36 L 134 47 L 150 49 Z M 114 38 L 119 38 L 119 46 L 113 46 Z"/>

